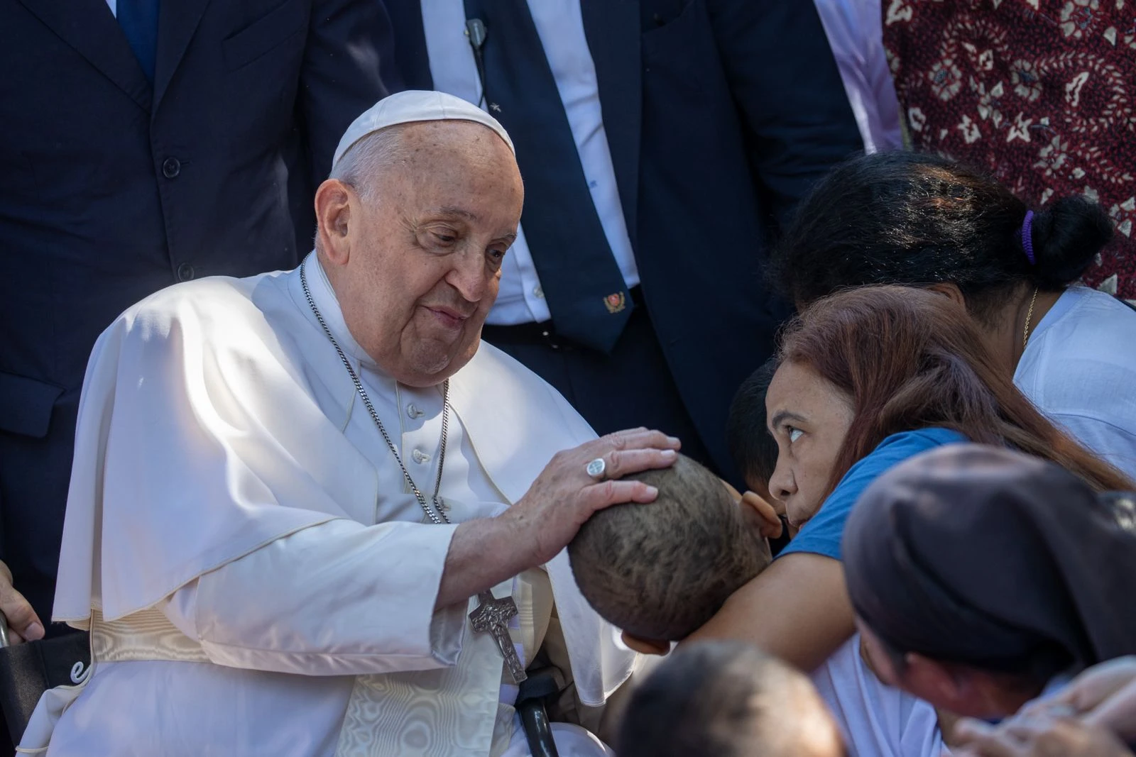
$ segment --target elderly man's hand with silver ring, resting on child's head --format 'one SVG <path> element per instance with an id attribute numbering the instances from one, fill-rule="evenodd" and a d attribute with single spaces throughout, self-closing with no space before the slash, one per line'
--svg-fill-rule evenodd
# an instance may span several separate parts
<path id="1" fill-rule="evenodd" d="M 617 431 L 557 453 L 520 501 L 498 518 L 508 521 L 521 544 L 532 545 L 529 564 L 541 565 L 563 549 L 592 513 L 610 505 L 654 502 L 659 491 L 624 476 L 674 464 L 679 441 L 645 428 Z M 602 457 L 603 481 L 585 468 Z"/>

